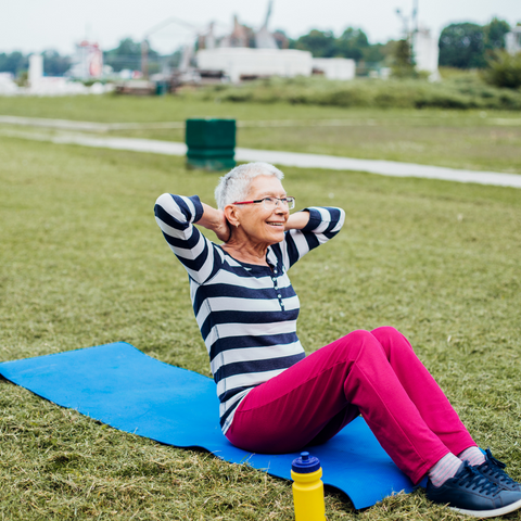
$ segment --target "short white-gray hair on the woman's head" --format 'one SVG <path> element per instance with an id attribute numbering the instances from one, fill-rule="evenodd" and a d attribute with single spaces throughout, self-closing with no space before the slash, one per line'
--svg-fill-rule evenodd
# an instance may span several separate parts
<path id="1" fill-rule="evenodd" d="M 236 166 L 219 179 L 219 183 L 215 189 L 217 207 L 225 209 L 227 204 L 242 201 L 250 191 L 252 180 L 257 176 L 274 176 L 279 181 L 284 178 L 284 175 L 269 163 L 247 163 Z"/>

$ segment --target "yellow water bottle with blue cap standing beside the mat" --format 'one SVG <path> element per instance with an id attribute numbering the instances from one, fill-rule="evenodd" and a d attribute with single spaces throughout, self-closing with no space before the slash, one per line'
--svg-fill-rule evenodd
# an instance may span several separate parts
<path id="1" fill-rule="evenodd" d="M 301 453 L 291 463 L 296 521 L 325 521 L 322 469 L 318 458 Z"/>

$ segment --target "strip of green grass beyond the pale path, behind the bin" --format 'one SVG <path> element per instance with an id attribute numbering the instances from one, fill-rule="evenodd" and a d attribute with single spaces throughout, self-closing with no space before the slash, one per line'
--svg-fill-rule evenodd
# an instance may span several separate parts
<path id="1" fill-rule="evenodd" d="M 521 174 L 519 112 L 343 109 L 215 103 L 163 98 L 0 98 L 1 115 L 100 123 L 183 122 L 232 117 L 249 125 L 238 145 Z M 325 120 L 342 126 L 320 126 Z M 254 126 L 255 122 L 293 122 Z M 0 130 L 2 126 L 0 126 Z M 183 141 L 182 129 L 117 130 L 118 136 Z"/>

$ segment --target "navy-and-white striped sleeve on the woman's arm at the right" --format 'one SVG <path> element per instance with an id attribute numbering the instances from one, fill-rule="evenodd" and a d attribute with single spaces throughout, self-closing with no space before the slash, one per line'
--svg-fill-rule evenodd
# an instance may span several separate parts
<path id="1" fill-rule="evenodd" d="M 332 239 L 344 225 L 345 212 L 335 207 L 312 206 L 309 221 L 302 230 L 289 230 L 280 244 L 282 263 L 291 268 L 306 253 Z"/>

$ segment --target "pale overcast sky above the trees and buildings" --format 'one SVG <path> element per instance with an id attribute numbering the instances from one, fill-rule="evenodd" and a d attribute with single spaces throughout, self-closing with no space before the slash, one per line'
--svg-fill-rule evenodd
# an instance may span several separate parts
<path id="1" fill-rule="evenodd" d="M 420 23 L 440 34 L 454 22 L 485 24 L 493 16 L 511 25 L 521 22 L 521 0 L 418 0 Z M 220 31 L 231 26 L 233 14 L 252 27 L 262 25 L 268 0 L 4 0 L 0 9 L 0 52 L 39 52 L 55 49 L 71 53 L 84 38 L 112 49 L 124 37 L 140 40 L 163 21 L 175 16 L 195 27 L 216 21 Z M 371 43 L 398 38 L 399 8 L 410 15 L 412 0 L 274 0 L 269 29 L 297 37 L 312 28 L 360 27 Z M 192 40 L 194 30 L 171 24 L 151 36 L 151 45 L 171 52 Z"/>

